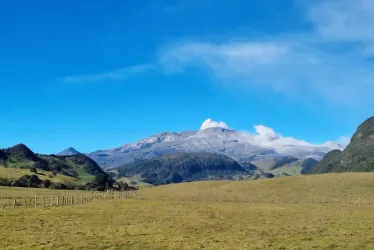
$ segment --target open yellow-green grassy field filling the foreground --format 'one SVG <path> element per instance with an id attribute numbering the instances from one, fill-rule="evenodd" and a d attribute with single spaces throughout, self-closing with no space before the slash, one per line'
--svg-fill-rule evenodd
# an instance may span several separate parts
<path id="1" fill-rule="evenodd" d="M 370 173 L 145 188 L 0 212 L 1 249 L 374 249 L 373 191 Z"/>

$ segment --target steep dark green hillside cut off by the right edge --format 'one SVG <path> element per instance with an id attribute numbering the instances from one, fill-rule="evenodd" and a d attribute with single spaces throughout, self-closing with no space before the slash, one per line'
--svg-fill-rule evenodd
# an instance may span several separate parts
<path id="1" fill-rule="evenodd" d="M 374 172 L 374 117 L 357 128 L 345 150 L 331 151 L 310 172 Z"/>

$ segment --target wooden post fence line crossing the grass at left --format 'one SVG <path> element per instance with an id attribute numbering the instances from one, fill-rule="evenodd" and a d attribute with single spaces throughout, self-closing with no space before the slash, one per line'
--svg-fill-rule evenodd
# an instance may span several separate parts
<path id="1" fill-rule="evenodd" d="M 119 200 L 131 198 L 136 191 L 107 191 L 107 192 L 86 192 L 65 193 L 56 195 L 36 195 L 33 197 L 6 197 L 0 198 L 0 212 L 6 210 L 18 210 L 21 208 L 51 208 L 62 206 L 74 206 L 86 204 L 97 200 Z"/>

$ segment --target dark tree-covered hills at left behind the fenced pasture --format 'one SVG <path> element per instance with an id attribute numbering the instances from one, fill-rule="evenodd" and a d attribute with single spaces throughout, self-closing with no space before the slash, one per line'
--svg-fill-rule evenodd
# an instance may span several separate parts
<path id="1" fill-rule="evenodd" d="M 0 177 L 8 179 L 15 179 L 19 175 L 17 169 L 20 170 L 20 173 L 24 173 L 25 170 L 35 169 L 37 172 L 43 172 L 48 175 L 70 177 L 70 179 L 68 178 L 69 180 L 82 183 L 93 181 L 95 176 L 99 174 L 108 176 L 96 162 L 85 155 L 38 155 L 23 144 L 0 150 L 0 166 L 13 170 L 0 171 Z M 6 173 L 7 175 L 1 176 L 1 173 Z M 14 174 L 14 176 L 11 174 Z"/>

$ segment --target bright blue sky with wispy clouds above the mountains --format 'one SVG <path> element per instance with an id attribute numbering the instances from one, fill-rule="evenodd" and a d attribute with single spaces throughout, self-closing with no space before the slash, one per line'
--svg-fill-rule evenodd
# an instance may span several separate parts
<path id="1" fill-rule="evenodd" d="M 0 2 L 0 147 L 107 149 L 208 118 L 311 143 L 373 114 L 371 0 Z"/>

